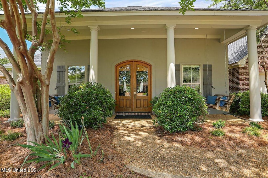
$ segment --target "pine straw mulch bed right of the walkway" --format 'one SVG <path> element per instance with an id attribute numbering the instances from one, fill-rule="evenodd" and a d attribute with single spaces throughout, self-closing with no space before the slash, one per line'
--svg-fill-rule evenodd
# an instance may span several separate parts
<path id="1" fill-rule="evenodd" d="M 242 129 L 249 126 L 248 123 L 225 123 L 223 130 L 225 136 L 213 136 L 210 131 L 215 128 L 211 123 L 201 125 L 202 130 L 187 131 L 183 133 L 169 133 L 163 127 L 156 127 L 157 135 L 170 143 L 183 146 L 193 146 L 206 150 L 238 150 L 240 148 L 260 148 L 268 145 L 268 117 L 263 118 L 265 122 L 260 122 L 264 128 L 260 137 L 248 136 L 241 133 Z"/>

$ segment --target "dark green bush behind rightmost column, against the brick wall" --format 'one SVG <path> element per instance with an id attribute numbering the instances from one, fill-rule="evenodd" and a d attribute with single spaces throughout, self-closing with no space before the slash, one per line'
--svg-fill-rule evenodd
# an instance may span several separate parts
<path id="1" fill-rule="evenodd" d="M 230 113 L 237 115 L 250 115 L 250 92 L 235 93 L 235 102 L 230 107 Z M 268 94 L 260 92 L 262 117 L 268 116 Z"/>

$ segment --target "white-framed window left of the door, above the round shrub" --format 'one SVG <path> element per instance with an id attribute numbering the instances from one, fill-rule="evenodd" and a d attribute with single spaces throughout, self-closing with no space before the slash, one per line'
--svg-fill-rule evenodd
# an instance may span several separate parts
<path id="1" fill-rule="evenodd" d="M 85 66 L 68 66 L 68 90 L 70 86 L 81 83 L 85 83 Z"/>

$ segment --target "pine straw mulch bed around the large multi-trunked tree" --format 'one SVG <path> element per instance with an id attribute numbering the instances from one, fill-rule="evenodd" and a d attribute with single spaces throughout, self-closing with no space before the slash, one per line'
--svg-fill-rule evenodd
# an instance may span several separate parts
<path id="1" fill-rule="evenodd" d="M 15 141 L 0 141 L 0 168 L 20 168 L 26 156 L 29 155 L 29 150 L 22 148 L 21 146 L 16 146 L 16 144 L 26 144 L 26 131 L 25 127 L 12 129 L 9 123 L 5 123 L 7 119 L 0 118 L 0 129 L 7 132 L 12 130 L 13 132 L 23 133 L 23 137 L 18 138 Z M 90 144 L 92 150 L 95 151 L 97 146 L 100 144 L 100 148 L 97 155 L 94 158 L 81 158 L 81 164 L 75 164 L 75 169 L 70 167 L 70 163 L 73 161 L 72 156 L 67 158 L 64 165 L 59 165 L 58 167 L 47 171 L 49 168 L 44 168 L 38 172 L 0 172 L 0 177 L 65 177 L 65 178 L 79 178 L 83 176 L 89 178 L 117 178 L 117 177 L 130 177 L 130 178 L 144 178 L 145 176 L 138 175 L 131 172 L 125 167 L 123 162 L 123 157 L 118 152 L 116 152 L 115 145 L 113 144 L 115 127 L 104 124 L 104 127 L 99 130 L 88 129 L 88 136 L 90 139 Z M 49 135 L 51 133 L 54 136 L 58 135 L 59 127 L 56 125 L 54 129 L 49 130 Z M 104 153 L 103 161 L 98 162 L 102 158 L 102 150 Z M 88 148 L 88 143 L 84 139 L 83 144 L 79 148 L 78 152 L 82 154 L 90 153 Z M 70 154 L 70 153 L 69 153 Z M 40 168 L 44 162 L 37 164 L 25 164 L 23 168 Z"/>

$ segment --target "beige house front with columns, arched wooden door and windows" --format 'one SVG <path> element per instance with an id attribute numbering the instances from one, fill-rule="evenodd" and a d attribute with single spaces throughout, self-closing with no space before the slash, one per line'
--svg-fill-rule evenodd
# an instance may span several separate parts
<path id="1" fill-rule="evenodd" d="M 67 52 L 56 53 L 50 94 L 64 95 L 73 84 L 102 83 L 116 99 L 116 113 L 151 113 L 151 98 L 175 85 L 195 88 L 203 96 L 228 94 L 227 44 L 246 33 L 250 78 L 255 77 L 255 32 L 268 24 L 268 11 L 195 9 L 182 15 L 179 9 L 83 10 L 83 18 L 64 26 L 70 43 L 65 46 Z M 62 25 L 64 13 L 55 17 L 57 25 Z M 27 15 L 29 24 L 30 18 Z M 73 34 L 71 28 L 80 33 Z M 42 52 L 42 68 L 47 56 Z M 261 121 L 259 80 L 250 84 L 251 119 Z"/>

